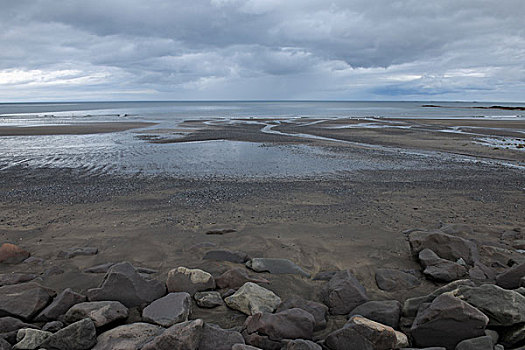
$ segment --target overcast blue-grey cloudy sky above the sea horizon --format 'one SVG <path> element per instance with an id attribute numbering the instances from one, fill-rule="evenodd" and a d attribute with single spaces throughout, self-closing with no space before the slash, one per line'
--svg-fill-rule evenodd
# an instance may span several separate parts
<path id="1" fill-rule="evenodd" d="M 0 101 L 525 100 L 523 0 L 0 0 Z"/>

